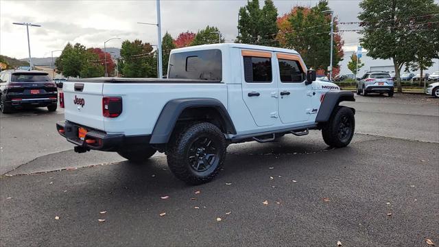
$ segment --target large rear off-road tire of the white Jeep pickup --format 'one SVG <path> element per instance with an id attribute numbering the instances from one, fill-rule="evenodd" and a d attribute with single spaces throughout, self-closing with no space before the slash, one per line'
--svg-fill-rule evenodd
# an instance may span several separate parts
<path id="1" fill-rule="evenodd" d="M 195 163 L 199 162 L 198 152 L 195 154 L 197 157 L 191 154 L 198 150 L 195 148 L 204 139 L 209 139 L 211 141 L 209 145 L 212 145 L 210 148 L 206 148 L 206 150 L 210 150 L 206 152 L 214 152 L 215 156 L 209 154 L 210 157 L 213 157 L 211 159 L 213 164 L 204 165 L 208 168 L 199 171 L 193 167 Z M 213 180 L 218 174 L 226 158 L 226 149 L 226 139 L 217 126 L 208 122 L 189 124 L 182 131 L 174 132 L 171 137 L 167 147 L 167 163 L 171 172 L 178 179 L 189 185 L 200 185 Z M 207 154 L 204 153 L 204 155 Z"/>

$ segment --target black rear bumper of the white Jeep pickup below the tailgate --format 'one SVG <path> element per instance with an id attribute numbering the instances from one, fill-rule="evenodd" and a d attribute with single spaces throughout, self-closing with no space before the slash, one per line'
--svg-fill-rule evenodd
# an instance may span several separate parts
<path id="1" fill-rule="evenodd" d="M 78 137 L 79 128 L 87 130 L 84 140 Z M 143 145 L 149 145 L 151 139 L 150 135 L 126 136 L 125 134 L 107 134 L 102 130 L 93 130 L 70 121 L 58 121 L 56 123 L 56 130 L 67 141 L 78 146 L 75 147 L 75 152 L 86 152 L 88 150 L 116 152 L 121 149 L 139 148 Z"/>

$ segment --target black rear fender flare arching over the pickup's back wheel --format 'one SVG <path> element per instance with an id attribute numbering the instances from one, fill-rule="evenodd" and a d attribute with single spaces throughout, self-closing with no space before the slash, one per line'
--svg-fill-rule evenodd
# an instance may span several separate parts
<path id="1" fill-rule="evenodd" d="M 150 143 L 167 143 L 183 110 L 197 107 L 215 108 L 222 117 L 226 133 L 236 134 L 235 126 L 230 115 L 228 115 L 226 107 L 218 99 L 202 97 L 172 99 L 163 106 L 154 130 L 152 130 Z"/>

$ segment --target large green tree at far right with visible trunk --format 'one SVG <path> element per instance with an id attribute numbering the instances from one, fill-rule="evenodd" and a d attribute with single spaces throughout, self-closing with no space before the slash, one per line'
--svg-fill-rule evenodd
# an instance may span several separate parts
<path id="1" fill-rule="evenodd" d="M 439 13 L 438 5 L 434 0 L 363 0 L 359 5 L 363 12 L 358 18 L 364 27 L 361 45 L 372 58 L 392 59 L 401 92 L 403 65 L 428 60 L 425 53 L 437 56 L 439 25 L 431 22 L 439 21 L 439 16 L 431 14 Z"/>

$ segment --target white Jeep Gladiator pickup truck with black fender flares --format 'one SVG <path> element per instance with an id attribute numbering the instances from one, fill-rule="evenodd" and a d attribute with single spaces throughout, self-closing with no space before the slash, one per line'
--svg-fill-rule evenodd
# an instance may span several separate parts
<path id="1" fill-rule="evenodd" d="M 167 79 L 91 78 L 62 86 L 58 132 L 75 152 L 117 152 L 141 162 L 165 152 L 169 169 L 197 185 L 212 180 L 230 143 L 274 141 L 322 130 L 342 148 L 355 128 L 353 93 L 316 81 L 290 49 L 242 44 L 174 49 Z"/>

